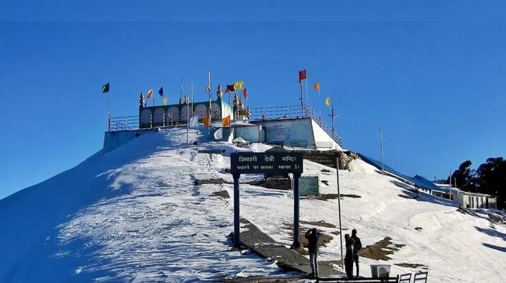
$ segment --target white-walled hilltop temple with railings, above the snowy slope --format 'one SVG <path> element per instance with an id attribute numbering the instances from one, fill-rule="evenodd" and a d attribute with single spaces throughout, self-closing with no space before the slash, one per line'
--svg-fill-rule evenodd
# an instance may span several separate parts
<path id="1" fill-rule="evenodd" d="M 109 118 L 104 152 L 149 129 L 186 126 L 195 116 L 200 123 L 210 117 L 208 139 L 217 142 L 239 140 L 306 150 L 341 150 L 341 137 L 303 100 L 301 105 L 252 108 L 245 107 L 237 94 L 234 94 L 232 103 L 224 101 L 223 95 L 221 85 L 218 85 L 216 100 L 209 98 L 194 102 L 184 96 L 177 104 L 147 106 L 141 94 L 138 116 Z M 222 120 L 228 117 L 230 126 L 223 126 Z M 213 133 L 221 128 L 222 139 L 215 139 Z"/>

